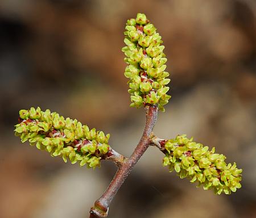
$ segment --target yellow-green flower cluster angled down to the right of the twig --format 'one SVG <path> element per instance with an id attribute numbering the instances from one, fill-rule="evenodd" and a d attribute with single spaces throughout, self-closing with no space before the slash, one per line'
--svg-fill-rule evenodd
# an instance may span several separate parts
<path id="1" fill-rule="evenodd" d="M 162 141 L 166 156 L 163 165 L 175 170 L 180 178 L 188 177 L 191 182 L 199 182 L 204 190 L 213 189 L 215 194 L 230 194 L 241 188 L 242 169 L 236 163 L 226 164 L 223 154 L 208 150 L 208 146 L 187 139 L 186 135 Z"/>

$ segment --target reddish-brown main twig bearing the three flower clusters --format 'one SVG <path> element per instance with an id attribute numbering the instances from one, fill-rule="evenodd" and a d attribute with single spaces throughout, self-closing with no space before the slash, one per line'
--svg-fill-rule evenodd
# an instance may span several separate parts
<path id="1" fill-rule="evenodd" d="M 157 115 L 158 115 L 158 108 L 155 106 L 146 106 L 146 125 L 144 127 L 144 131 L 139 140 L 137 147 L 135 148 L 133 154 L 131 154 L 130 158 L 123 161 L 120 167 L 115 173 L 115 176 L 110 182 L 109 187 L 106 189 L 104 194 L 96 200 L 94 203 L 94 207 L 90 209 L 90 218 L 100 218 L 100 217 L 107 217 L 108 216 L 108 209 L 109 204 L 112 202 L 115 194 L 122 186 L 125 179 L 130 174 L 131 170 L 138 162 L 139 158 L 146 152 L 148 146 L 151 144 L 150 135 L 154 128 Z"/>

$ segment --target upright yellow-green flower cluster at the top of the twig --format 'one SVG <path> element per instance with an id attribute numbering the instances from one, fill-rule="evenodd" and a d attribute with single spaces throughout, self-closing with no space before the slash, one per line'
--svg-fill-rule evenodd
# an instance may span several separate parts
<path id="1" fill-rule="evenodd" d="M 131 94 L 131 107 L 155 105 L 164 111 L 164 104 L 171 98 L 167 95 L 170 79 L 164 71 L 167 61 L 163 53 L 162 37 L 156 32 L 146 15 L 138 13 L 136 19 L 127 20 L 125 27 L 125 77 L 129 78 L 128 92 Z"/>

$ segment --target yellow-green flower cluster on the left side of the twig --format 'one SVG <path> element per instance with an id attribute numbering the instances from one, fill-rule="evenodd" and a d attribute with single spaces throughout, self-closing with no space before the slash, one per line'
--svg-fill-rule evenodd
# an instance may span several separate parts
<path id="1" fill-rule="evenodd" d="M 109 152 L 109 137 L 104 132 L 89 129 L 79 121 L 64 119 L 56 112 L 31 107 L 19 111 L 19 124 L 15 125 L 15 135 L 22 142 L 29 141 L 51 156 L 62 156 L 71 163 L 80 162 L 88 167 L 100 166 L 101 158 Z"/>

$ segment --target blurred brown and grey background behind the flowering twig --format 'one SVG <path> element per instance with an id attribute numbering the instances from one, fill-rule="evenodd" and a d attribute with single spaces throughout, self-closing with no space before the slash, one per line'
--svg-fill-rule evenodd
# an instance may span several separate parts
<path id="1" fill-rule="evenodd" d="M 255 1 L 1 0 L 0 217 L 88 217 L 115 173 L 90 170 L 22 144 L 22 108 L 40 106 L 110 133 L 130 156 L 144 110 L 129 108 L 121 52 L 126 20 L 144 12 L 163 37 L 170 103 L 155 134 L 216 146 L 243 169 L 242 188 L 216 196 L 162 167 L 150 148 L 110 206 L 109 217 L 256 217 Z"/>

